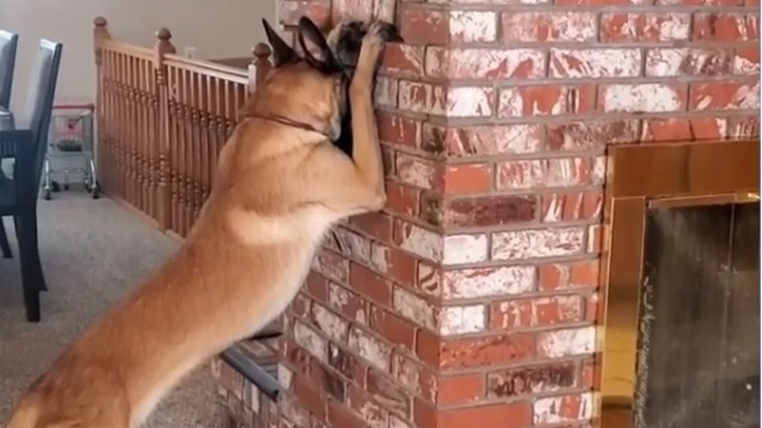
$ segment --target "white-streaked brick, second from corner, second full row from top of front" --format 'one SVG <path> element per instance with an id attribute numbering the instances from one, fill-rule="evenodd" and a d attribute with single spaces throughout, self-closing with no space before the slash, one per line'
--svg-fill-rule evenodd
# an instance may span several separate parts
<path id="1" fill-rule="evenodd" d="M 640 49 L 550 49 L 552 78 L 637 77 Z"/>

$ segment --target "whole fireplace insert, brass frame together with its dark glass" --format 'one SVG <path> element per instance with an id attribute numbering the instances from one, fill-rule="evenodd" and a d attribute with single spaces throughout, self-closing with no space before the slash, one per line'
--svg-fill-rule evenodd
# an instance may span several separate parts
<path id="1" fill-rule="evenodd" d="M 759 154 L 610 149 L 600 426 L 760 426 Z"/>

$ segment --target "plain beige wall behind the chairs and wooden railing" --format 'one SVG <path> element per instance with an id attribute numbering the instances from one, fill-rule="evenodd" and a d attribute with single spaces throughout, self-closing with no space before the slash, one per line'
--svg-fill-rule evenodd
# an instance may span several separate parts
<path id="1" fill-rule="evenodd" d="M 158 27 L 168 27 L 183 53 L 198 58 L 245 56 L 264 40 L 261 18 L 275 22 L 275 0 L 0 0 L 0 28 L 20 35 L 13 106 L 24 105 L 34 49 L 41 37 L 64 43 L 59 97 L 94 93 L 92 20 L 102 15 L 119 40 L 152 46 Z"/>

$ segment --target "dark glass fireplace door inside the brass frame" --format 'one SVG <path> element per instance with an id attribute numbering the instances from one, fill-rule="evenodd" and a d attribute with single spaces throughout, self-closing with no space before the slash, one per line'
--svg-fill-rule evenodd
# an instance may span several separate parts
<path id="1" fill-rule="evenodd" d="M 637 428 L 759 426 L 759 203 L 645 213 Z"/>

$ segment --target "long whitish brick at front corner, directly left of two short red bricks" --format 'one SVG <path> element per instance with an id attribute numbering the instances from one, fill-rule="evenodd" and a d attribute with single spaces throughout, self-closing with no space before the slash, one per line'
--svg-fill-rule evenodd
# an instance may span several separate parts
<path id="1" fill-rule="evenodd" d="M 536 269 L 506 266 L 444 271 L 443 275 L 444 299 L 472 299 L 529 293 L 535 287 Z"/>

